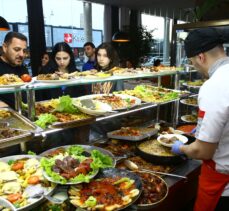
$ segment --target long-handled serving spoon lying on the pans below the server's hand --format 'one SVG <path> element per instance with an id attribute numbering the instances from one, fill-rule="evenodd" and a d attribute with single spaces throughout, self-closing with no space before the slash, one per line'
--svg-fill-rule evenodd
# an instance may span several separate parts
<path id="1" fill-rule="evenodd" d="M 141 171 L 154 173 L 154 174 L 161 174 L 161 175 L 166 175 L 166 176 L 170 176 L 170 177 L 188 179 L 186 176 L 181 176 L 181 175 L 177 175 L 177 174 L 170 174 L 170 173 L 165 173 L 165 172 L 160 172 L 160 171 L 153 171 L 153 170 L 148 170 L 148 169 L 144 169 L 144 168 L 139 169 L 139 166 L 130 160 L 125 160 L 124 164 L 127 168 L 129 168 L 130 170 L 133 170 L 133 171 L 140 171 L 141 170 Z"/>

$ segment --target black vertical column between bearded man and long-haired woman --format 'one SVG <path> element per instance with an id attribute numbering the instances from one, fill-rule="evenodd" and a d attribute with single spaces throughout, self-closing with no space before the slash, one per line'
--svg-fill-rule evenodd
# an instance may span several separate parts
<path id="1" fill-rule="evenodd" d="M 30 60 L 33 75 L 37 75 L 42 53 L 46 50 L 42 0 L 27 0 Z"/>

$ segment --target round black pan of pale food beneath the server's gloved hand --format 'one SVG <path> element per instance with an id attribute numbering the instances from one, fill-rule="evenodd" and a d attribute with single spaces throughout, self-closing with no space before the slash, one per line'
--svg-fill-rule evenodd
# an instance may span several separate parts
<path id="1" fill-rule="evenodd" d="M 142 146 L 151 146 L 150 150 L 142 150 Z M 156 149 L 161 149 L 165 153 L 156 153 Z M 173 165 L 173 164 L 179 164 L 186 159 L 184 157 L 181 157 L 176 154 L 169 154 L 166 155 L 167 152 L 169 153 L 171 148 L 165 147 L 160 145 L 156 139 L 151 139 L 145 142 L 142 142 L 140 144 L 136 145 L 136 154 L 144 158 L 145 160 L 155 163 L 155 164 L 160 164 L 160 165 Z"/>

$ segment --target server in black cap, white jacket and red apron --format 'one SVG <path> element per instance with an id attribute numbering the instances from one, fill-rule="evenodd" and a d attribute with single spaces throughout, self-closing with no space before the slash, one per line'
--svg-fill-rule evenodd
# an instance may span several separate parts
<path id="1" fill-rule="evenodd" d="M 229 57 L 221 32 L 197 29 L 185 40 L 187 57 L 209 78 L 199 91 L 195 142 L 172 146 L 174 153 L 203 160 L 195 211 L 229 210 Z"/>

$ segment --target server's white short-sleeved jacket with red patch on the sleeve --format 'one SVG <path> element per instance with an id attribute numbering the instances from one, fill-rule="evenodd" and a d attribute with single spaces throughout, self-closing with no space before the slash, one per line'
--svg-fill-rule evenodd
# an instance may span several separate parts
<path id="1" fill-rule="evenodd" d="M 224 65 L 217 61 L 218 65 L 211 69 L 210 79 L 199 91 L 195 137 L 204 142 L 218 143 L 212 160 L 218 172 L 229 174 L 229 59 L 226 61 L 228 63 L 224 61 Z M 223 195 L 229 196 L 229 185 Z"/>

